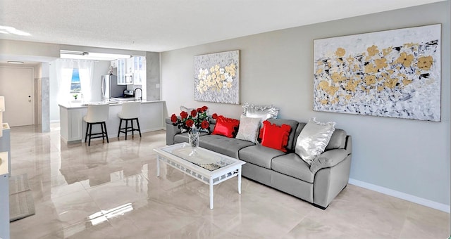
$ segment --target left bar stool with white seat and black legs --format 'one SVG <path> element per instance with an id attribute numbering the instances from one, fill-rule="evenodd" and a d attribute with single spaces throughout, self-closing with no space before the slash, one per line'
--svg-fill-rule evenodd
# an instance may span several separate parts
<path id="1" fill-rule="evenodd" d="M 86 126 L 86 134 L 85 134 L 85 142 L 89 136 L 88 146 L 91 146 L 91 138 L 102 138 L 102 140 L 106 143 L 110 143 L 108 140 L 108 133 L 106 131 L 106 120 L 108 120 L 110 105 L 87 105 L 87 114 L 83 117 L 83 120 L 87 123 Z M 100 133 L 92 133 L 92 125 L 100 124 L 101 132 Z"/>

